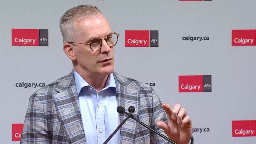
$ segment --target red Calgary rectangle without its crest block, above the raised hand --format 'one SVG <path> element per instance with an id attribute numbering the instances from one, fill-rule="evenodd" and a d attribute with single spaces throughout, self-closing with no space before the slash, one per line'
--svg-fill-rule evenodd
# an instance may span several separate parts
<path id="1" fill-rule="evenodd" d="M 179 92 L 203 92 L 203 75 L 179 76 Z"/>

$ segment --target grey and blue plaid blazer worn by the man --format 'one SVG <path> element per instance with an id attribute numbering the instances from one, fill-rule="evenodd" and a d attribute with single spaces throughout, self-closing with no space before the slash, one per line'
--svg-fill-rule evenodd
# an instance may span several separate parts
<path id="1" fill-rule="evenodd" d="M 165 134 L 157 121 L 168 122 L 155 91 L 145 83 L 113 73 L 118 105 L 133 113 L 143 123 Z M 120 122 L 126 115 L 120 114 Z M 86 126 L 85 126 L 86 127 Z M 120 129 L 121 144 L 165 144 L 165 139 L 129 119 Z M 21 144 L 86 144 L 74 70 L 39 89 L 29 98 L 21 136 Z"/>

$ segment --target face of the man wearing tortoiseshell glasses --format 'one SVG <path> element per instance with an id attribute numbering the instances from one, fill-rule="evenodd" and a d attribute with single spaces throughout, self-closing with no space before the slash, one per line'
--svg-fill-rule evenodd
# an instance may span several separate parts
<path id="1" fill-rule="evenodd" d="M 105 37 L 111 28 L 103 15 L 79 17 L 75 25 L 78 35 L 74 42 L 87 43 L 95 37 Z M 114 71 L 114 48 L 110 48 L 102 39 L 102 46 L 98 51 L 92 51 L 90 45 L 75 44 L 77 67 L 81 73 L 88 76 L 105 76 Z M 79 71 L 78 70 L 78 71 Z"/>

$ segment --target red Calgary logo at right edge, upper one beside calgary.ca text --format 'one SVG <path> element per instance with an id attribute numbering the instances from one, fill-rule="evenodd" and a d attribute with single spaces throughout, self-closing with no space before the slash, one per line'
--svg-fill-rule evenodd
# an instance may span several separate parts
<path id="1" fill-rule="evenodd" d="M 256 30 L 232 30 L 232 46 L 256 46 Z"/>

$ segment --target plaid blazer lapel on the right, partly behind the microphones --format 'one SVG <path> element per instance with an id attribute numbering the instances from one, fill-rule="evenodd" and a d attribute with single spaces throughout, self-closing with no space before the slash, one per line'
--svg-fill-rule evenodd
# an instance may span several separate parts
<path id="1" fill-rule="evenodd" d="M 133 116 L 139 119 L 139 103 L 140 103 L 140 93 L 135 89 L 131 89 L 122 83 L 119 77 L 114 73 L 116 87 L 117 87 L 117 103 L 118 106 L 125 108 L 128 112 L 130 106 L 135 107 Z M 127 117 L 126 114 L 120 114 L 120 123 Z M 128 119 L 120 129 L 121 144 L 133 144 L 136 138 L 136 132 L 138 124 L 133 119 Z"/>

